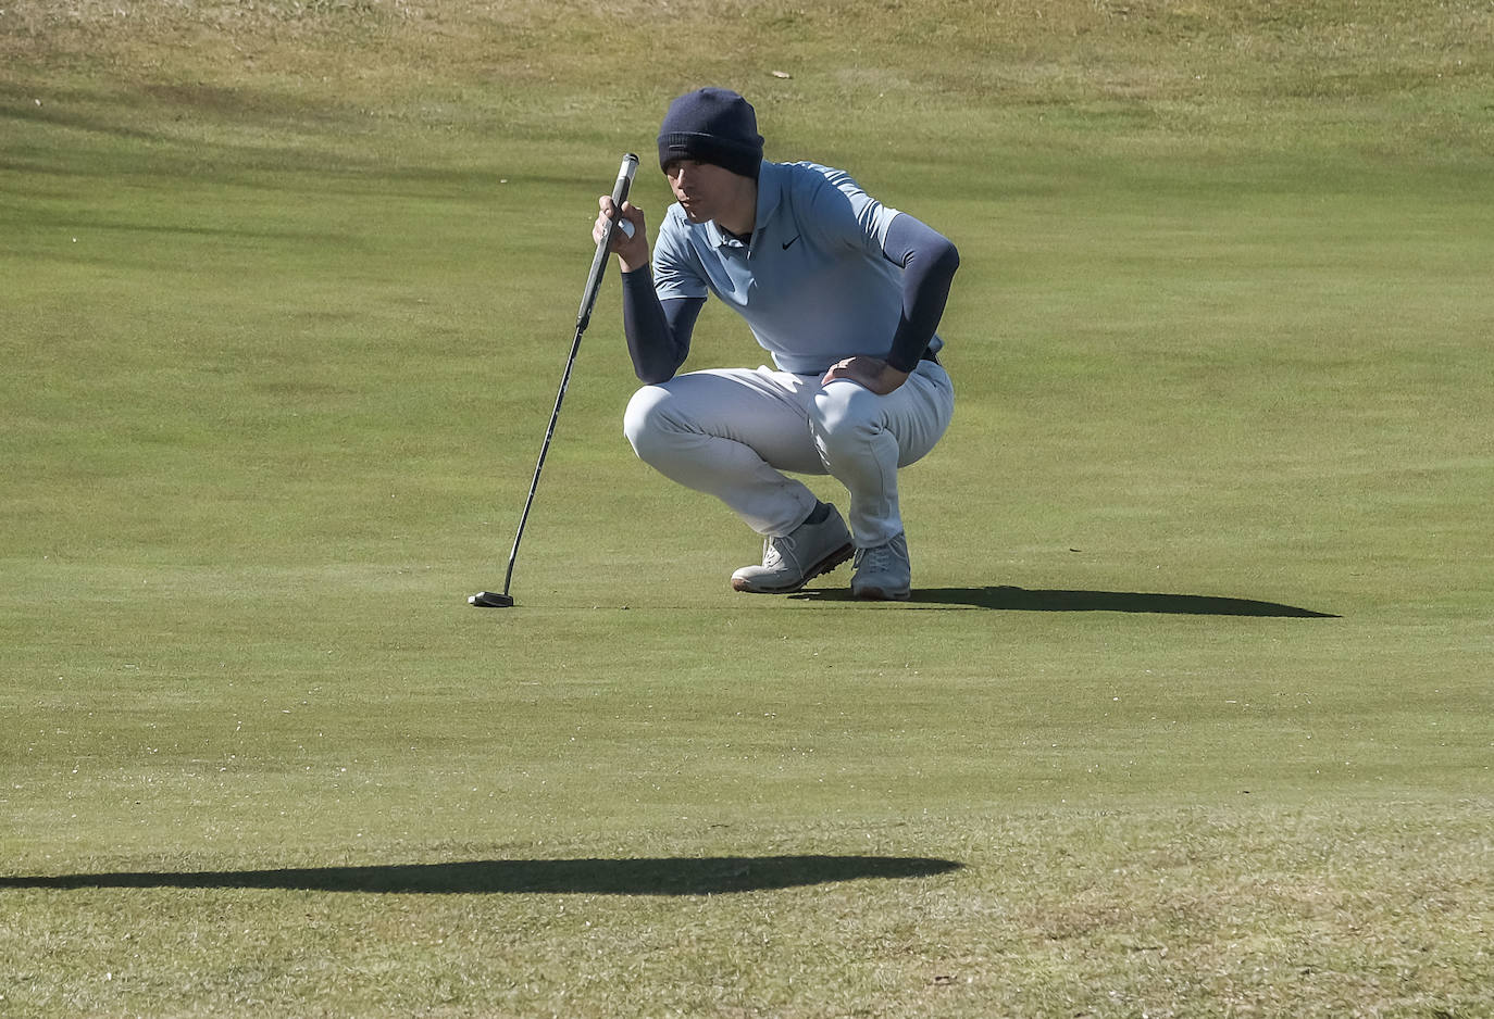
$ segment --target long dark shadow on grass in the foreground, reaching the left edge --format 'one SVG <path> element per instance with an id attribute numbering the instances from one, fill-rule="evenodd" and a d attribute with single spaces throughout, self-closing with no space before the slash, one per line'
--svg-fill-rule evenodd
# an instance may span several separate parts
<path id="1" fill-rule="evenodd" d="M 457 864 L 287 870 L 143 871 L 0 877 L 10 888 L 264 888 L 317 892 L 492 895 L 725 895 L 867 877 L 931 877 L 964 867 L 925 856 L 680 856 L 665 859 L 484 859 Z"/>

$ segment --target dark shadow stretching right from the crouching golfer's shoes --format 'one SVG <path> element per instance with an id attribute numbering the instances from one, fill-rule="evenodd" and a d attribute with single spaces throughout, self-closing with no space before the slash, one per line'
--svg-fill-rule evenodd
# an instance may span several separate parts
<path id="1" fill-rule="evenodd" d="M 850 601 L 846 588 L 801 591 L 802 601 Z M 922 588 L 907 601 L 911 607 L 999 609 L 1005 612 L 1152 612 L 1182 616 L 1277 616 L 1294 619 L 1339 619 L 1315 612 L 1252 598 L 1219 598 L 1203 594 L 1143 594 L 1140 591 L 1029 591 L 1026 588 Z"/>

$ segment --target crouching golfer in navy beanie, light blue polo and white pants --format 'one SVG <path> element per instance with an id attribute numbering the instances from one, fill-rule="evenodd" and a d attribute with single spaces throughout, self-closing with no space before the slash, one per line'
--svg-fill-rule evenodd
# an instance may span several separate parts
<path id="1" fill-rule="evenodd" d="M 723 88 L 671 103 L 659 166 L 677 203 L 651 267 L 642 209 L 604 195 L 593 234 L 614 215 L 627 222 L 611 251 L 645 383 L 623 425 L 633 451 L 763 537 L 762 562 L 732 574 L 737 591 L 798 591 L 855 556 L 855 597 L 907 598 L 898 468 L 934 448 L 955 409 L 935 328 L 959 254 L 840 170 L 765 161 L 756 112 Z M 677 374 L 711 294 L 772 367 Z M 787 474 L 834 476 L 847 519 Z"/>

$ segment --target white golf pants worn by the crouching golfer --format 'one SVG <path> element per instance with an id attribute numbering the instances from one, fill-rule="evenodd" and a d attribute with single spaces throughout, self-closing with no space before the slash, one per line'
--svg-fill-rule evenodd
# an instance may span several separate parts
<path id="1" fill-rule="evenodd" d="M 898 468 L 934 448 L 953 412 L 955 386 L 934 361 L 887 395 L 766 367 L 711 369 L 635 392 L 623 431 L 644 463 L 768 537 L 793 531 L 816 503 L 783 471 L 831 474 L 850 494 L 856 546 L 874 548 L 902 531 Z"/>

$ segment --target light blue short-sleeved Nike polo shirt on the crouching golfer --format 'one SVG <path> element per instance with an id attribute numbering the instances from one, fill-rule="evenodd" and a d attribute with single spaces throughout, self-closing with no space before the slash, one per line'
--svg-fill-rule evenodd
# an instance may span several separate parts
<path id="1" fill-rule="evenodd" d="M 886 357 L 902 316 L 902 269 L 883 255 L 896 215 L 841 170 L 765 161 L 751 245 L 672 204 L 654 240 L 654 291 L 665 301 L 716 294 L 795 374 Z"/>

